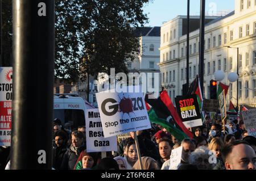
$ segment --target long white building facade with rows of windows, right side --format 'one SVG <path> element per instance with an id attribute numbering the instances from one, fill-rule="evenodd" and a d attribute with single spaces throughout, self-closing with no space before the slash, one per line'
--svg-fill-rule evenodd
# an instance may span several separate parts
<path id="1" fill-rule="evenodd" d="M 238 48 L 238 104 L 256 106 L 256 1 L 235 0 L 235 10 L 222 17 L 213 17 L 205 24 L 204 97 L 209 99 L 210 79 L 217 70 L 223 70 L 222 83 L 230 85 L 226 100 L 237 102 L 237 82 L 229 82 L 228 74 L 237 72 Z M 183 19 L 177 18 L 161 27 L 160 72 L 162 86 L 171 99 L 182 95 L 186 83 L 187 35 Z M 191 19 L 197 19 L 191 16 Z M 205 19 L 210 19 L 206 16 Z M 199 29 L 189 33 L 189 82 L 199 74 Z M 231 48 L 228 48 L 231 47 Z M 202 90 L 203 91 L 203 90 Z"/>

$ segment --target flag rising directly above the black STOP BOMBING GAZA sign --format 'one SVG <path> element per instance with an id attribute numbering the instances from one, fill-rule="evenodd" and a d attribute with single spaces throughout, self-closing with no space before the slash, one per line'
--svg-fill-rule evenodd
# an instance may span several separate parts
<path id="1" fill-rule="evenodd" d="M 191 84 L 189 85 L 187 95 L 191 95 L 191 94 L 197 95 L 197 102 L 198 102 L 199 108 L 201 110 L 203 97 L 202 97 L 202 92 L 201 92 L 201 88 L 200 88 L 200 81 L 199 81 L 198 75 L 196 75 L 196 78 L 194 79 L 194 81 L 191 82 Z"/>

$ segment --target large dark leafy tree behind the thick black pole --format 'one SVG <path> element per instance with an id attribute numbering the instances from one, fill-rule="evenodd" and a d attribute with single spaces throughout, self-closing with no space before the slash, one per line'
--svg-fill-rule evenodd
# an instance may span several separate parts
<path id="1" fill-rule="evenodd" d="M 139 41 L 134 28 L 147 16 L 142 7 L 152 0 L 55 0 L 55 77 L 77 81 L 79 75 L 127 72 L 126 60 L 134 60 Z M 11 1 L 3 3 L 3 52 L 12 48 Z M 6 57 L 10 64 L 11 57 Z"/>

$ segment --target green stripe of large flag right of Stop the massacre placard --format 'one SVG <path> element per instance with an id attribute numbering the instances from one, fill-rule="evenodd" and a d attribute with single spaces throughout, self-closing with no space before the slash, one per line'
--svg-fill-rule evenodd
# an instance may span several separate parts
<path id="1" fill-rule="evenodd" d="M 174 137 L 179 140 L 180 142 L 184 139 L 187 138 L 187 134 L 185 134 L 183 131 L 180 131 L 180 129 L 176 128 L 174 125 L 172 125 L 171 123 L 169 123 L 168 121 L 159 118 L 154 109 L 151 108 L 148 111 L 148 117 L 150 119 L 151 123 L 155 123 L 158 124 L 160 126 L 162 126 L 163 128 L 166 128 L 168 132 L 170 132 L 172 135 L 174 135 Z"/>

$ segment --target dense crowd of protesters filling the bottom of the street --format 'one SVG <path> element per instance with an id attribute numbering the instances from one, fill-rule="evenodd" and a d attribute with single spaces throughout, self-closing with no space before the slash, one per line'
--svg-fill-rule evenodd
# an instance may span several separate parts
<path id="1" fill-rule="evenodd" d="M 193 138 L 177 140 L 160 125 L 137 131 L 142 169 L 168 170 L 172 149 L 183 146 L 178 170 L 245 170 L 256 167 L 256 138 L 248 136 L 237 120 L 205 119 L 201 127 L 190 129 Z M 225 130 L 225 131 L 224 131 Z M 10 148 L 0 148 L 0 169 L 10 169 Z M 118 142 L 117 151 L 86 152 L 85 126 L 72 130 L 59 119 L 53 121 L 53 169 L 56 170 L 140 170 L 134 132 Z"/>

